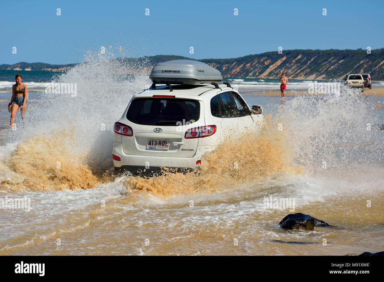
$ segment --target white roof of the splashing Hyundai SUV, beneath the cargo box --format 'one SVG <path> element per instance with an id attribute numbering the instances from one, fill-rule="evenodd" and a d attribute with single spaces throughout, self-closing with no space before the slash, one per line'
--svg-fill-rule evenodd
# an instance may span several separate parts
<path id="1" fill-rule="evenodd" d="M 209 94 L 217 93 L 219 91 L 235 91 L 235 89 L 226 86 L 225 84 L 218 83 L 218 87 L 215 88 L 215 86 L 211 84 L 200 84 L 200 85 L 190 85 L 190 84 L 177 84 L 177 85 L 171 85 L 170 87 L 168 85 L 159 85 L 153 88 L 144 89 L 140 93 L 134 95 L 132 98 L 137 97 L 152 97 L 152 95 L 177 95 L 178 97 L 195 97 L 195 98 L 203 98 L 204 96 L 207 96 Z M 172 91 L 170 91 L 170 88 L 172 88 Z M 220 90 L 221 89 L 221 90 Z M 216 90 L 216 91 L 214 91 Z M 200 99 L 199 99 L 200 100 Z"/>

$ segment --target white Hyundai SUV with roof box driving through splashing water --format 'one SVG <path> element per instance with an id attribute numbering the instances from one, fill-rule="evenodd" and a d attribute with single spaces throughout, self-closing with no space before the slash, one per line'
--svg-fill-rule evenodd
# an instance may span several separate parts
<path id="1" fill-rule="evenodd" d="M 162 71 L 157 78 L 156 68 Z M 185 68 L 189 70 L 184 73 L 192 74 L 176 80 L 189 84 L 172 85 L 175 81 L 170 77 L 178 76 Z M 202 69 L 205 71 L 201 72 Z M 259 132 L 263 119 L 260 106 L 252 106 L 251 110 L 229 83 L 199 84 L 220 80 L 221 74 L 216 69 L 213 70 L 220 78 L 209 76 L 211 69 L 207 64 L 190 60 L 154 66 L 150 76 L 154 84 L 134 95 L 121 119 L 114 124 L 115 171 L 152 176 L 161 172 L 162 167 L 178 168 L 178 171 L 194 169 L 205 152 L 226 139 L 239 138 L 249 131 Z M 205 79 L 201 79 L 204 75 Z M 167 80 L 171 81 L 168 85 L 155 84 Z"/>

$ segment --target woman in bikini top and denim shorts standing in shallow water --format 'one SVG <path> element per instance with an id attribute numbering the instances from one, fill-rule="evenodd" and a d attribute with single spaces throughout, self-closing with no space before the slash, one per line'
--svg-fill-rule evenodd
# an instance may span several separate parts
<path id="1" fill-rule="evenodd" d="M 22 114 L 22 119 L 25 118 L 25 111 L 26 111 L 26 108 L 28 107 L 25 105 L 25 102 L 28 96 L 28 86 L 22 83 L 23 78 L 20 74 L 17 74 L 15 79 L 16 79 L 16 84 L 12 86 L 12 99 L 11 99 L 11 102 L 9 103 L 10 105 L 12 105 L 11 120 L 10 120 L 11 127 L 13 127 L 15 115 L 19 107 L 20 107 L 20 112 Z"/>

